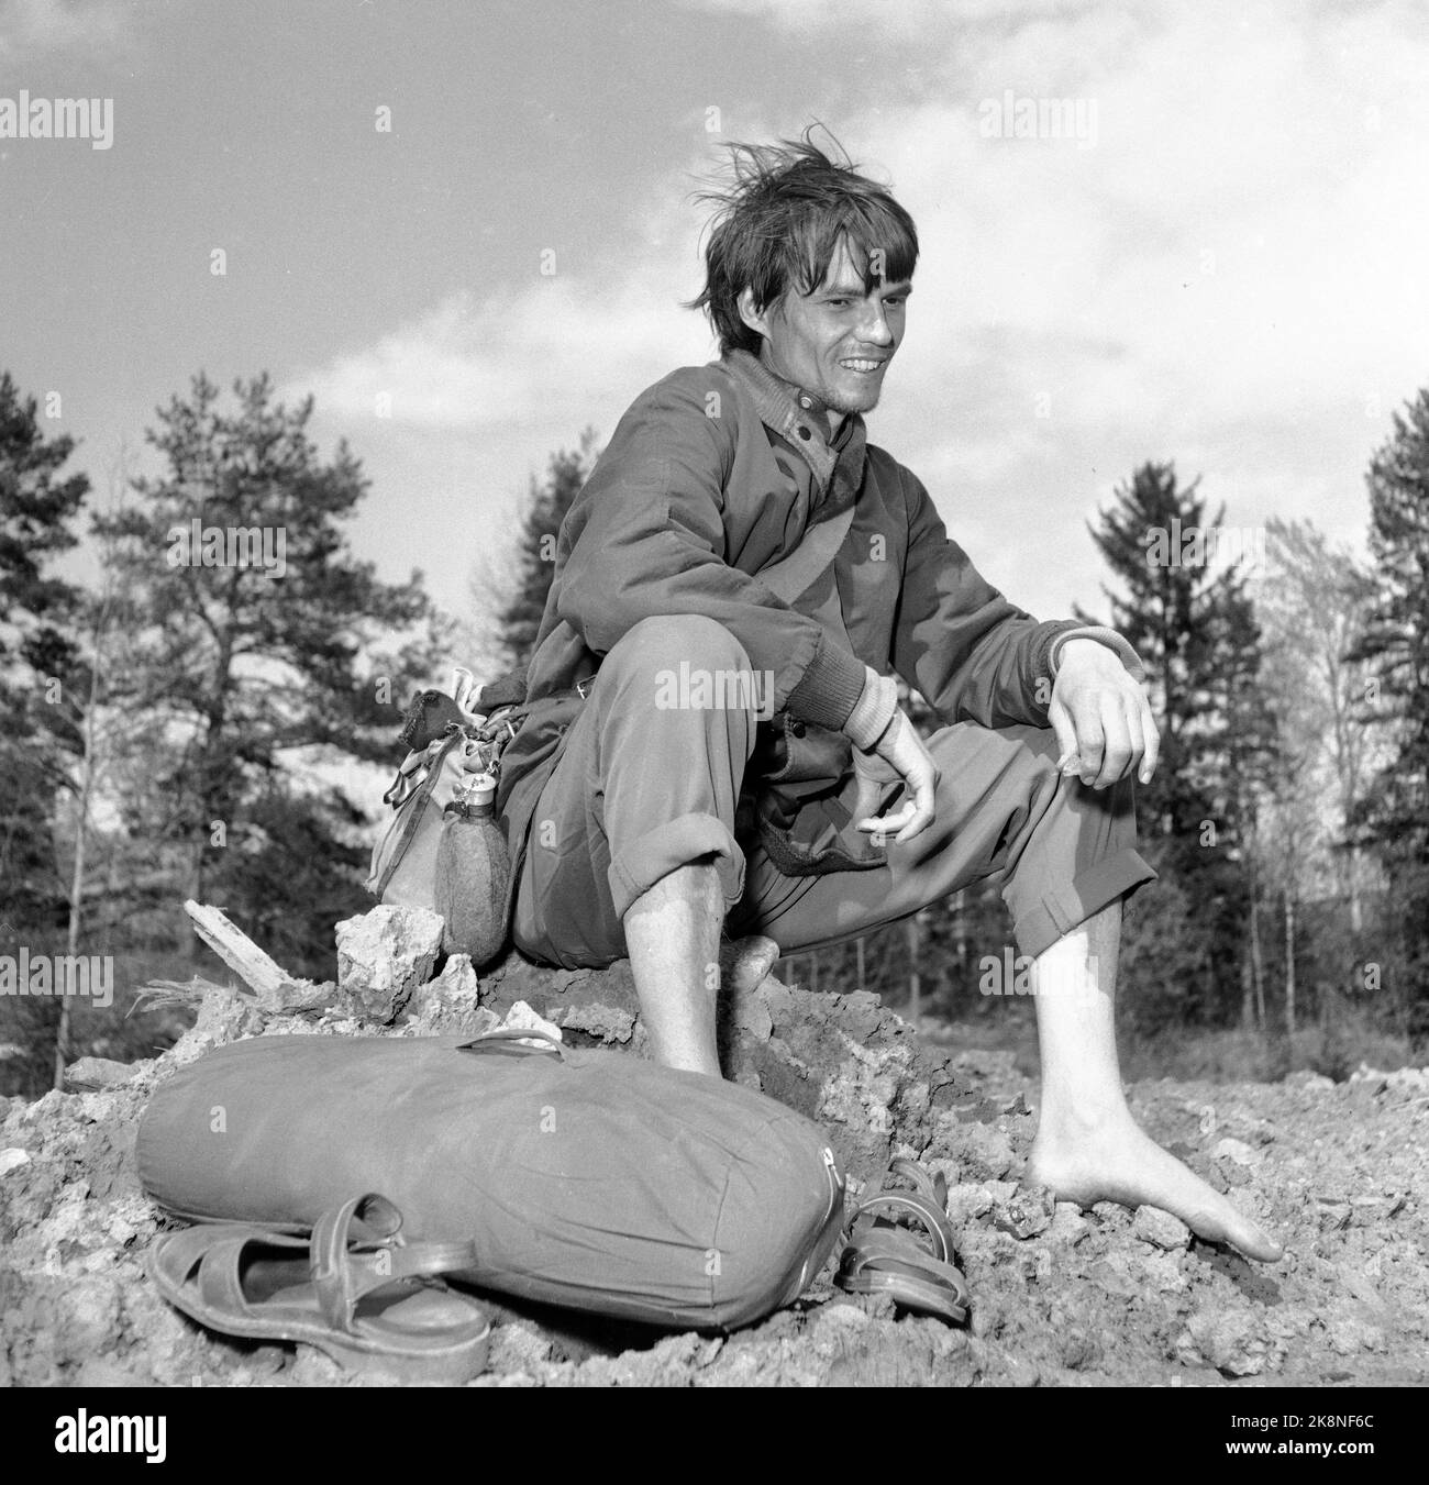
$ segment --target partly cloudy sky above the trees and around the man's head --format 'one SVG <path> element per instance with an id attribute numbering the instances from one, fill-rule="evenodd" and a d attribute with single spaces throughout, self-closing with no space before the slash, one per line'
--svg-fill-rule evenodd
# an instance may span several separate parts
<path id="1" fill-rule="evenodd" d="M 870 438 L 1016 603 L 1104 615 L 1148 459 L 1362 549 L 1429 385 L 1426 79 L 1419 0 L 0 0 L 0 132 L 111 101 L 0 138 L 0 368 L 100 497 L 269 371 L 362 460 L 358 555 L 465 615 L 550 453 L 716 353 L 722 144 L 818 120 L 922 244 Z"/>

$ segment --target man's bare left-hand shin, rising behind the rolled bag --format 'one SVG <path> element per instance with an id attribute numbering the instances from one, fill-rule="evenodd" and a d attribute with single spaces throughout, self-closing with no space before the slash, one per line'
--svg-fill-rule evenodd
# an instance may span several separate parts
<path id="1" fill-rule="evenodd" d="M 725 922 L 719 873 L 682 866 L 642 892 L 622 921 L 651 1056 L 667 1068 L 722 1077 L 714 1034 Z"/>

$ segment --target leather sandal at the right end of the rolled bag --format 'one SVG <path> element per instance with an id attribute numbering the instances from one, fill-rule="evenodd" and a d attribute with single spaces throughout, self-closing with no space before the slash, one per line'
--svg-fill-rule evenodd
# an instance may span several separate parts
<path id="1" fill-rule="evenodd" d="M 903 1176 L 912 1191 L 890 1188 Z M 925 1240 L 899 1225 L 912 1218 Z M 948 1182 L 914 1160 L 896 1160 L 884 1185 L 854 1209 L 848 1243 L 835 1283 L 848 1293 L 887 1293 L 915 1314 L 930 1314 L 949 1325 L 967 1320 L 967 1280 L 954 1267 L 954 1233 L 948 1221 Z"/>

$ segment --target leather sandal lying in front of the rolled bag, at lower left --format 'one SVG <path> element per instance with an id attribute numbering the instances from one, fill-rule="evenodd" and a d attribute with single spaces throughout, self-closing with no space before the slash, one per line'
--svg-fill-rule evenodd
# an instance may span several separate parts
<path id="1" fill-rule="evenodd" d="M 492 1326 L 435 1276 L 475 1268 L 475 1243 L 407 1243 L 401 1224 L 373 1192 L 325 1213 L 310 1237 L 204 1224 L 160 1237 L 149 1274 L 211 1331 L 303 1341 L 400 1381 L 463 1383 L 486 1366 Z"/>

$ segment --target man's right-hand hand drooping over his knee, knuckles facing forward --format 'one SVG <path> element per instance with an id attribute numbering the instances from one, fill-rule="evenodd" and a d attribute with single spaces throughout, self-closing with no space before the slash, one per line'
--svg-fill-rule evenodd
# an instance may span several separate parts
<path id="1" fill-rule="evenodd" d="M 1047 720 L 1056 734 L 1059 766 L 1092 789 L 1107 789 L 1135 772 L 1151 781 L 1160 734 L 1139 680 L 1098 640 L 1062 646 Z"/>

